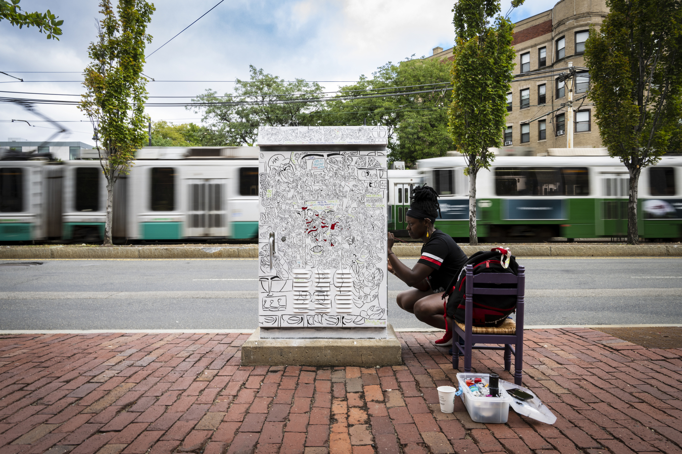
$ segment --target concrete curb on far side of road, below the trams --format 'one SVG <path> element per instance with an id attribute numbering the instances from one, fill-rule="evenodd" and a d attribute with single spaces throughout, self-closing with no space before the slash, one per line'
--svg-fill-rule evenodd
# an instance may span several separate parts
<path id="1" fill-rule="evenodd" d="M 505 244 L 516 257 L 682 257 L 682 244 L 649 245 L 640 244 L 543 244 L 518 245 Z M 491 244 L 468 246 L 461 245 L 466 255 L 471 256 L 479 250 L 490 250 Z M 419 257 L 421 243 L 395 244 L 393 248 L 398 257 Z M 40 260 L 40 259 L 228 259 L 258 257 L 256 244 L 238 246 L 113 246 L 68 247 L 38 246 L 16 247 L 0 246 L 0 260 Z"/>

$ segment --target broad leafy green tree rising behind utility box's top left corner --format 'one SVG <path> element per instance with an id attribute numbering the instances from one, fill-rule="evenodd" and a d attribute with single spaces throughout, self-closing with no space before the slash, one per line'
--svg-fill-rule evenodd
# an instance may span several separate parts
<path id="1" fill-rule="evenodd" d="M 323 88 L 303 79 L 286 81 L 265 74 L 250 65 L 250 80 L 237 79 L 235 93 L 218 96 L 206 90 L 192 99 L 188 109 L 203 112 L 202 120 L 216 127 L 213 132 L 223 137 L 226 145 L 252 145 L 259 126 L 310 126 L 313 115 L 323 106 Z"/>

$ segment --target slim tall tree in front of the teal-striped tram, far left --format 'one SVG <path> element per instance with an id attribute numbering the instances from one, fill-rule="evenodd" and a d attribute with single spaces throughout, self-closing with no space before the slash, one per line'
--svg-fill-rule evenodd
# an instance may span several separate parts
<path id="1" fill-rule="evenodd" d="M 95 146 L 106 178 L 104 244 L 109 245 L 114 185 L 130 171 L 135 150 L 147 142 L 147 79 L 142 71 L 145 46 L 151 42 L 147 24 L 155 8 L 145 0 L 119 0 L 117 12 L 110 0 L 101 0 L 100 7 L 104 18 L 98 41 L 88 48 L 91 63 L 83 73 L 86 93 L 79 107 L 98 137 Z"/>

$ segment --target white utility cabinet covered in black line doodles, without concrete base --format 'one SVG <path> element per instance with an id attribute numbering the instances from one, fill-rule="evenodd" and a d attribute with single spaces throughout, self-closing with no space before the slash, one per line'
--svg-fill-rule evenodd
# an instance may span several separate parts
<path id="1" fill-rule="evenodd" d="M 334 134 L 297 131 L 266 129 L 263 137 L 324 143 Z M 370 128 L 341 131 L 344 143 L 385 141 Z M 385 152 L 297 150 L 260 153 L 259 325 L 385 327 Z"/>

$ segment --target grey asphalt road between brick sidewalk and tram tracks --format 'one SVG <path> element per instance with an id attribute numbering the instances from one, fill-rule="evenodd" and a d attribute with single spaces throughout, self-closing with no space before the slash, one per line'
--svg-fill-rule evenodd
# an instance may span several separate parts
<path id="1" fill-rule="evenodd" d="M 404 260 L 413 266 L 415 259 Z M 3 263 L 13 263 L 5 261 Z M 44 260 L 0 263 L 0 332 L 254 329 L 256 259 Z M 522 258 L 526 325 L 682 324 L 682 259 Z M 389 323 L 427 327 L 396 306 Z"/>

